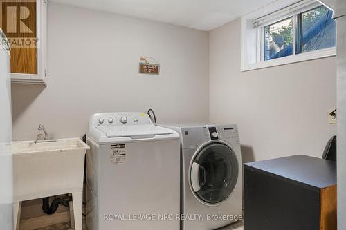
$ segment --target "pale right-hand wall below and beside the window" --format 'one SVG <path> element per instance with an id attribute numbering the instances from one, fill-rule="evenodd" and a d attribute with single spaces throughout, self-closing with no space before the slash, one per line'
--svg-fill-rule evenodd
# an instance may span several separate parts
<path id="1" fill-rule="evenodd" d="M 245 161 L 322 157 L 335 107 L 335 57 L 242 73 L 240 20 L 210 32 L 210 121 L 238 124 Z"/>

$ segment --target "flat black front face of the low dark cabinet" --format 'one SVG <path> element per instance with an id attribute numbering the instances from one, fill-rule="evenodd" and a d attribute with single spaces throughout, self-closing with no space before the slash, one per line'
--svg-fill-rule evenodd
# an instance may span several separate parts
<path id="1" fill-rule="evenodd" d="M 244 229 L 319 230 L 319 220 L 317 188 L 244 167 Z"/>

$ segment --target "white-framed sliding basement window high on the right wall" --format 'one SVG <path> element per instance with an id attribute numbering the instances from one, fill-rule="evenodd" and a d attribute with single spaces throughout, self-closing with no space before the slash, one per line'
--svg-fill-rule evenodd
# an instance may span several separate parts
<path id="1" fill-rule="evenodd" d="M 332 10 L 316 1 L 277 4 L 242 17 L 243 71 L 336 55 Z"/>

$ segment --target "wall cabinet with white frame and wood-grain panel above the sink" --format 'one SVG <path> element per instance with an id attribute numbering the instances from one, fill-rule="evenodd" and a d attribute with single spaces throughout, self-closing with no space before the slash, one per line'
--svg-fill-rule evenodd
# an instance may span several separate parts
<path id="1" fill-rule="evenodd" d="M 0 3 L 1 26 L 11 46 L 12 83 L 45 85 L 47 0 Z"/>

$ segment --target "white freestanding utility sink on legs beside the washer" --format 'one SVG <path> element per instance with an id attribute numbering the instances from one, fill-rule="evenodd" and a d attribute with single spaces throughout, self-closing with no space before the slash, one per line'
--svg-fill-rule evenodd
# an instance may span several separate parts
<path id="1" fill-rule="evenodd" d="M 11 148 L 15 217 L 20 216 L 21 201 L 66 193 L 73 195 L 75 213 L 82 211 L 84 157 L 89 146 L 71 138 L 12 142 Z M 80 218 L 82 214 L 77 220 L 75 216 L 75 229 L 81 229 Z"/>

